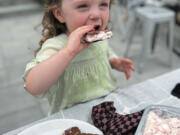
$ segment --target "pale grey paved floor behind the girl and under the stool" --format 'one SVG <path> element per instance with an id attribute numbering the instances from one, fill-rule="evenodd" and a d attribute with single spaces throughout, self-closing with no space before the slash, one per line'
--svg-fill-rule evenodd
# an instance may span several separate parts
<path id="1" fill-rule="evenodd" d="M 117 17 L 118 15 L 113 17 L 114 36 L 110 44 L 119 56 L 123 56 L 126 42 L 121 40 Z M 23 88 L 22 80 L 25 66 L 33 58 L 34 50 L 38 47 L 41 19 L 42 12 L 38 11 L 21 16 L 16 14 L 3 17 L 0 21 L 0 134 L 47 116 L 47 101 L 39 101 L 27 93 Z M 176 45 L 180 44 L 179 29 L 179 27 L 175 28 Z M 148 56 L 142 74 L 134 72 L 127 81 L 122 73 L 114 71 L 120 87 L 127 87 L 180 67 L 180 57 L 175 54 L 173 54 L 173 66 L 168 67 L 165 32 L 166 25 L 163 25 L 158 32 L 156 50 L 154 54 Z M 142 33 L 138 30 L 129 53 L 135 67 L 137 67 L 141 40 Z"/>

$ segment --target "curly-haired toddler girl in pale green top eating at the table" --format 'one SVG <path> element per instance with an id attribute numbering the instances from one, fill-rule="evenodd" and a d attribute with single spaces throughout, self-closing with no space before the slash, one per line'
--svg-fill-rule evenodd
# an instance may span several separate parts
<path id="1" fill-rule="evenodd" d="M 48 99 L 49 114 L 117 89 L 112 68 L 127 79 L 134 71 L 133 63 L 118 58 L 106 40 L 82 42 L 94 27 L 106 29 L 110 4 L 111 0 L 45 0 L 43 38 L 24 80 L 29 93 Z"/>

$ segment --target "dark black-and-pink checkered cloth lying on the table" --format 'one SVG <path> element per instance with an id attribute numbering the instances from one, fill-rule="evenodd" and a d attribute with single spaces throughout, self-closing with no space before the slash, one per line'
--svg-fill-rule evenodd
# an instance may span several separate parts
<path id="1" fill-rule="evenodd" d="M 104 135 L 134 135 L 143 111 L 121 115 L 113 102 L 103 102 L 92 109 L 92 120 Z"/>

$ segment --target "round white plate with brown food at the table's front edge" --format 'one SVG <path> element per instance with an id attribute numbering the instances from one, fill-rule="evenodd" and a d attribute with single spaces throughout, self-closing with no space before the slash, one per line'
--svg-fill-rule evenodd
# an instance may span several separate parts
<path id="1" fill-rule="evenodd" d="M 103 133 L 93 125 L 74 119 L 49 120 L 25 129 L 18 135 L 62 135 L 64 130 L 73 126 L 79 127 L 83 133 L 103 135 Z"/>

